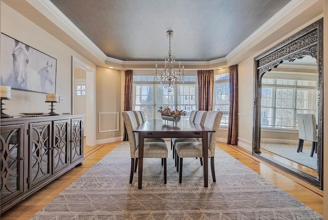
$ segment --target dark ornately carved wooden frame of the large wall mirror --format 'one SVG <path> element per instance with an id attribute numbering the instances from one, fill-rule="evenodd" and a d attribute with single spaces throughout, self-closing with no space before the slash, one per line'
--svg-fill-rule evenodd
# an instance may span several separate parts
<path id="1" fill-rule="evenodd" d="M 318 161 L 317 176 L 311 176 L 295 168 L 286 166 L 265 155 L 261 155 L 261 80 L 265 72 L 276 68 L 285 60 L 293 61 L 304 56 L 311 56 L 317 60 L 317 84 L 318 84 Z M 271 49 L 260 54 L 254 59 L 254 89 L 253 89 L 253 155 L 272 164 L 273 166 L 302 179 L 309 184 L 322 189 L 323 178 L 323 19 L 316 21 L 310 26 L 298 31 L 288 39 L 280 42 Z"/>

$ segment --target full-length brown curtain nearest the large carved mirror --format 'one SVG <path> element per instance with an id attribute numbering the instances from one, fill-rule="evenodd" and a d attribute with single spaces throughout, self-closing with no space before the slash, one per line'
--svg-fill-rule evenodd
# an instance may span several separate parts
<path id="1" fill-rule="evenodd" d="M 229 66 L 229 124 L 227 143 L 237 145 L 238 143 L 238 65 Z"/>

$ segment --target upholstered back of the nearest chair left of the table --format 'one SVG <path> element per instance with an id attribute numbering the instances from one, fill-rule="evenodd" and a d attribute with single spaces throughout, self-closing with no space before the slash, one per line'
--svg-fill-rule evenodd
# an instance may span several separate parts
<path id="1" fill-rule="evenodd" d="M 137 149 L 139 140 L 138 140 L 138 134 L 133 132 L 133 130 L 135 130 L 138 127 L 137 120 L 132 111 L 122 112 L 122 116 L 123 116 L 124 124 L 127 128 L 128 138 L 130 142 L 131 157 L 135 158 L 134 153 Z"/>

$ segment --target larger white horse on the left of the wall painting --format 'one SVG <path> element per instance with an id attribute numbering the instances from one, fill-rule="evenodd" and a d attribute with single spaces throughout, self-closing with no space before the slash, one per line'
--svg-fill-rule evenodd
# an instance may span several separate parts
<path id="1" fill-rule="evenodd" d="M 15 40 L 15 47 L 12 52 L 13 70 L 8 79 L 2 80 L 6 85 L 13 88 L 40 91 L 40 77 L 34 70 L 30 69 L 29 49 L 29 46 Z"/>

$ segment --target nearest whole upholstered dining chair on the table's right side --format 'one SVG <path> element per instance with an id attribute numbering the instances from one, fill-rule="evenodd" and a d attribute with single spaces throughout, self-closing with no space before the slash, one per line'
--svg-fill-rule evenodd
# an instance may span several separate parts
<path id="1" fill-rule="evenodd" d="M 215 170 L 214 170 L 214 156 L 216 148 L 216 138 L 219 130 L 220 121 L 222 118 L 223 112 L 209 111 L 206 115 L 204 121 L 205 127 L 212 128 L 215 132 L 209 133 L 209 157 L 211 157 L 211 171 L 213 182 L 215 179 Z M 177 152 L 176 158 L 179 166 L 179 183 L 182 182 L 182 159 L 184 157 L 203 157 L 202 152 L 202 143 L 201 142 L 177 142 L 175 144 L 175 150 Z"/>

